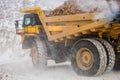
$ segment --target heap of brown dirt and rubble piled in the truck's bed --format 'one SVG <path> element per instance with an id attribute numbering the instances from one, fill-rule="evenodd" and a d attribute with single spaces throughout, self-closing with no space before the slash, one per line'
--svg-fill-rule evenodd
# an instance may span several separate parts
<path id="1" fill-rule="evenodd" d="M 77 13 L 82 13 L 82 11 L 80 7 L 77 5 L 76 0 L 67 0 L 64 2 L 63 5 L 51 11 L 49 16 L 69 15 Z"/>

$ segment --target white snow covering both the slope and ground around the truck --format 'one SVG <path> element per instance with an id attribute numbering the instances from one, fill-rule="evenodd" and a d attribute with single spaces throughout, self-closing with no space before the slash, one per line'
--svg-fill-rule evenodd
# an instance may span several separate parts
<path id="1" fill-rule="evenodd" d="M 78 76 L 70 62 L 55 64 L 48 61 L 47 70 L 36 70 L 30 50 L 22 50 L 20 37 L 15 34 L 14 21 L 22 17 L 24 7 L 52 10 L 65 0 L 0 0 L 0 80 L 119 80 L 120 72 L 105 73 L 98 77 Z"/>

